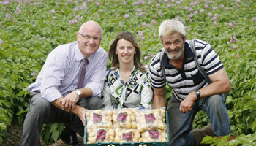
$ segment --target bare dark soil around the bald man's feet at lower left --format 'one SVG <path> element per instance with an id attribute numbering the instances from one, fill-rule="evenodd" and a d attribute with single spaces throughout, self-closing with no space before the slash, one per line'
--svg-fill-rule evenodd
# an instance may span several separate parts
<path id="1" fill-rule="evenodd" d="M 6 134 L 6 142 L 0 143 L 0 146 L 20 146 L 20 139 L 23 131 L 23 123 L 18 123 L 18 121 L 13 121 L 12 126 L 7 128 Z M 83 137 L 78 136 L 78 144 L 83 145 Z M 41 140 L 41 145 L 46 146 L 44 142 Z M 48 146 L 69 146 L 65 144 L 61 139 L 57 140 L 57 142 L 48 145 Z"/>

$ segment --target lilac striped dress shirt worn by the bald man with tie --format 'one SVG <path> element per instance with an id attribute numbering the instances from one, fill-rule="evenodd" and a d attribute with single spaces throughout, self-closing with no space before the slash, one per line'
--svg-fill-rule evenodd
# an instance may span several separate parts
<path id="1" fill-rule="evenodd" d="M 60 45 L 49 53 L 30 92 L 39 92 L 42 98 L 53 102 L 75 90 L 84 56 L 77 42 Z M 101 96 L 105 80 L 108 54 L 102 47 L 88 58 L 83 87 L 91 88 L 92 96 Z"/>

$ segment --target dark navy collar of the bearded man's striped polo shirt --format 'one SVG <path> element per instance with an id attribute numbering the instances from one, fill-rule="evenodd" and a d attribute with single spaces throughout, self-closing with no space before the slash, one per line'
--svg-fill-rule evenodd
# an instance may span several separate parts
<path id="1" fill-rule="evenodd" d="M 189 44 L 185 42 L 185 53 L 184 53 L 184 60 L 187 60 L 188 58 L 193 58 L 195 54 L 192 52 L 191 48 L 189 47 Z M 162 49 L 162 51 L 165 51 L 165 48 Z M 162 61 L 160 63 L 160 66 L 170 66 L 169 58 L 167 57 L 167 54 L 164 53 L 162 56 Z"/>

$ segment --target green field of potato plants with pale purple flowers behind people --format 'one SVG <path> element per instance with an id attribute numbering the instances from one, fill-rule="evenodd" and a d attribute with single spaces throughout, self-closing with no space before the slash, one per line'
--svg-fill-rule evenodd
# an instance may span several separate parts
<path id="1" fill-rule="evenodd" d="M 23 123 L 29 110 L 27 87 L 34 82 L 53 48 L 76 40 L 80 25 L 102 26 L 101 47 L 108 51 L 120 31 L 131 31 L 145 64 L 162 48 L 158 27 L 181 20 L 187 39 L 209 42 L 230 78 L 227 96 L 236 140 L 206 137 L 211 145 L 256 145 L 256 1 L 255 0 L 8 0 L 0 1 L 0 143 L 14 119 Z M 110 67 L 110 61 L 108 61 Z M 167 87 L 166 99 L 171 89 Z M 204 112 L 194 127 L 208 124 Z M 45 125 L 45 143 L 59 139 L 63 124 Z"/>

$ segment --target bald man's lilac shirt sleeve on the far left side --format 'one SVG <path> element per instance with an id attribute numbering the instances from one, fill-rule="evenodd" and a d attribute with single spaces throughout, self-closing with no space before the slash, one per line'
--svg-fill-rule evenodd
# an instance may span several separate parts
<path id="1" fill-rule="evenodd" d="M 59 53 L 57 49 L 49 53 L 41 71 L 43 75 L 40 91 L 42 98 L 49 102 L 53 102 L 62 96 L 59 91 L 59 85 L 64 79 L 67 57 L 59 55 Z"/>

